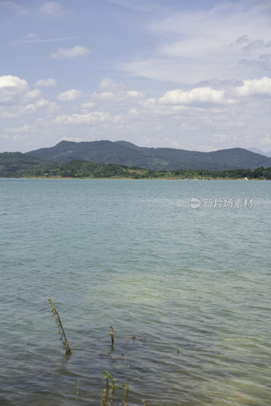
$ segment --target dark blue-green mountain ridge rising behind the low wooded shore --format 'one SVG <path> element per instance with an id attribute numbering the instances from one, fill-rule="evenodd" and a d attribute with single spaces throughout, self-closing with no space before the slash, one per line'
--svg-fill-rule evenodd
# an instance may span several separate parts
<path id="1" fill-rule="evenodd" d="M 151 170 L 208 169 L 223 171 L 233 168 L 269 167 L 271 158 L 243 148 L 213 152 L 186 151 L 174 148 L 138 147 L 126 141 L 61 141 L 54 147 L 29 151 L 27 154 L 60 163 L 71 159 L 142 166 Z"/>

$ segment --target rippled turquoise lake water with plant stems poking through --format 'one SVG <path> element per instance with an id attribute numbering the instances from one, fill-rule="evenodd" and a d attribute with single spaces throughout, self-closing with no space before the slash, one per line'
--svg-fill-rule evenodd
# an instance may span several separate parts
<path id="1" fill-rule="evenodd" d="M 1 406 L 75 405 L 78 379 L 77 405 L 97 405 L 104 370 L 116 404 L 127 383 L 130 405 L 269 406 L 270 197 L 268 181 L 0 179 Z"/>

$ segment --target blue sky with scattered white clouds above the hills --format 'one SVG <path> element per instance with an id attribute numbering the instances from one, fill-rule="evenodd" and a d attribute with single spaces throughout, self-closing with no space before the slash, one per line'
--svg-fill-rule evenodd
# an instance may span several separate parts
<path id="1" fill-rule="evenodd" d="M 0 0 L 0 152 L 268 152 L 270 107 L 270 0 Z"/>

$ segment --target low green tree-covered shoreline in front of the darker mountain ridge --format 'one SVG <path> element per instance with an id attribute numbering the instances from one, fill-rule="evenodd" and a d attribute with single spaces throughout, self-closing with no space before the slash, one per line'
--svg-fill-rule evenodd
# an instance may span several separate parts
<path id="1" fill-rule="evenodd" d="M 253 153 L 252 153 L 253 154 Z M 258 154 L 255 154 L 258 155 Z M 191 165 L 192 166 L 192 165 Z M 209 169 L 178 169 L 155 171 L 141 166 L 127 166 L 118 163 L 101 163 L 89 160 L 72 159 L 65 163 L 22 154 L 21 152 L 0 153 L 1 178 L 133 178 L 133 179 L 210 179 L 230 178 L 239 179 L 269 179 L 271 166 L 257 167 L 254 170 L 235 168 L 224 171 Z"/>

